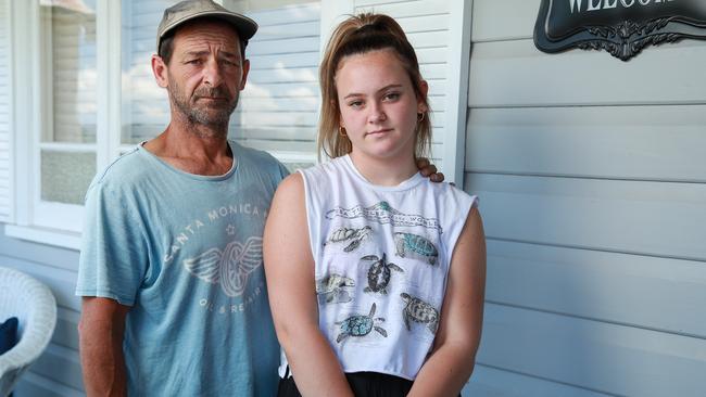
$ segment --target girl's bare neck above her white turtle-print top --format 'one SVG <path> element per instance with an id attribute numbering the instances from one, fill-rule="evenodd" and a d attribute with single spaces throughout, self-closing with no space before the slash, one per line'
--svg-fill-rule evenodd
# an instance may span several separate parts
<path id="1" fill-rule="evenodd" d="M 396 187 L 419 171 L 413 155 L 380 159 L 353 151 L 350 156 L 355 168 L 368 182 L 381 187 Z"/>

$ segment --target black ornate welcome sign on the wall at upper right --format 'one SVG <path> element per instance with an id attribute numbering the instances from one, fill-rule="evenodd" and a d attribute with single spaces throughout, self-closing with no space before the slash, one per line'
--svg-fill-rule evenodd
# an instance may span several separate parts
<path id="1" fill-rule="evenodd" d="M 706 0 L 542 0 L 534 25 L 544 52 L 603 49 L 622 61 L 683 38 L 706 40 Z"/>

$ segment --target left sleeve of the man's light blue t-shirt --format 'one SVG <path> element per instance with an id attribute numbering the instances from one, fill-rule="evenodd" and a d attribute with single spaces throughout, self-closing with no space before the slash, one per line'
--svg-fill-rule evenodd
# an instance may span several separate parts
<path id="1" fill-rule="evenodd" d="M 76 295 L 133 306 L 148 271 L 139 209 L 119 188 L 93 182 L 86 195 Z"/>

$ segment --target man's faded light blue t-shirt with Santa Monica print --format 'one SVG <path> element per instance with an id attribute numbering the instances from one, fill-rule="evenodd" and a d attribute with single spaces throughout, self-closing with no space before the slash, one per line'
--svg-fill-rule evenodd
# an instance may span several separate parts
<path id="1" fill-rule="evenodd" d="M 262 261 L 265 217 L 288 174 L 229 142 L 223 176 L 182 172 L 141 145 L 86 196 L 76 294 L 131 306 L 130 396 L 273 396 L 279 346 Z"/>

